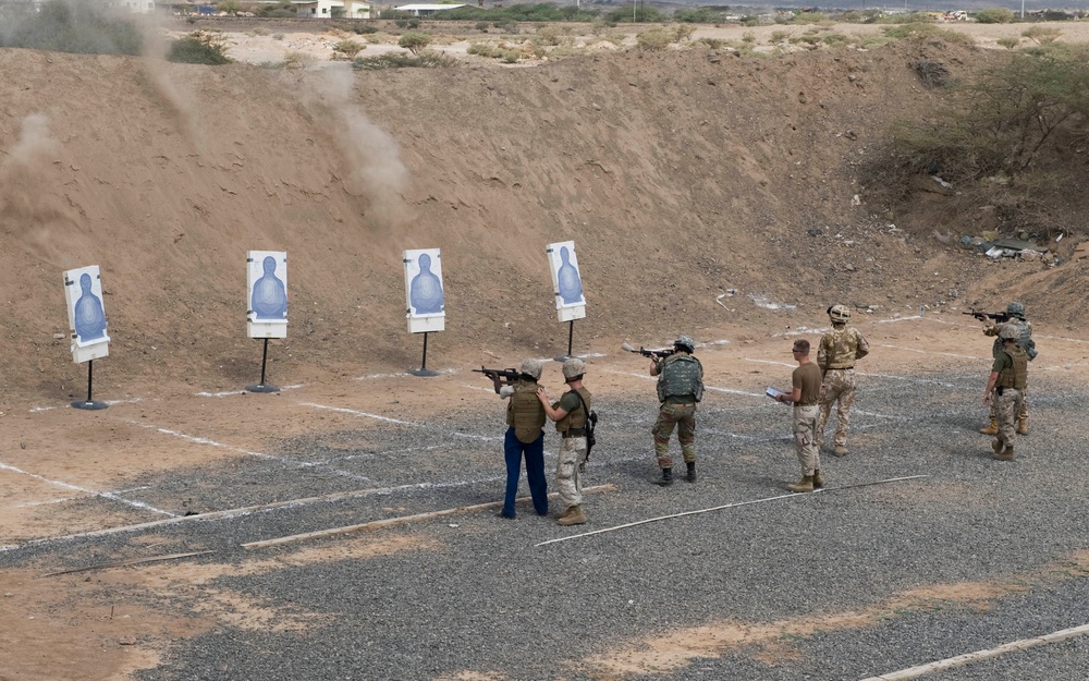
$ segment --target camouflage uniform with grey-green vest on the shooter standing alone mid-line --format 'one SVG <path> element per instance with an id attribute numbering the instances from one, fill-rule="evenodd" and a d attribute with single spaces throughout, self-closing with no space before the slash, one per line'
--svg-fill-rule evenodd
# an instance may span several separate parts
<path id="1" fill-rule="evenodd" d="M 658 465 L 673 467 L 670 437 L 674 428 L 685 463 L 695 463 L 696 403 L 703 396 L 703 365 L 696 357 L 677 352 L 656 363 L 651 373 L 658 376 L 658 399 L 662 403 L 658 421 L 650 430 Z"/>

